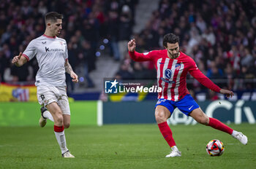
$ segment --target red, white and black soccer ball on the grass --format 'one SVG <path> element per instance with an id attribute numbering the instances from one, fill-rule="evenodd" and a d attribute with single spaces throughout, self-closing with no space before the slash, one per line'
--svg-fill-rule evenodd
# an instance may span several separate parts
<path id="1" fill-rule="evenodd" d="M 206 145 L 206 152 L 210 156 L 220 156 L 223 154 L 225 148 L 222 141 L 214 139 Z"/>

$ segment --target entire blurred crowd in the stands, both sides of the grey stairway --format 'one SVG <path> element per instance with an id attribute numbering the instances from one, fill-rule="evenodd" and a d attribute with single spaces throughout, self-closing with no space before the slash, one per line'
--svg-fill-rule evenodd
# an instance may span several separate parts
<path id="1" fill-rule="evenodd" d="M 94 87 L 97 49 L 108 39 L 122 79 L 155 79 L 151 62 L 135 63 L 127 42 L 135 38 L 138 52 L 163 49 L 167 33 L 180 36 L 182 52 L 191 56 L 210 79 L 232 90 L 251 90 L 256 78 L 256 0 L 160 0 L 143 31 L 132 32 L 139 0 L 0 0 L 0 82 L 34 82 L 35 59 L 21 68 L 11 64 L 31 39 L 45 31 L 44 15 L 64 15 L 61 38 L 67 40 L 69 63 Z M 140 24 L 140 23 L 137 23 Z M 191 76 L 189 88 L 204 89 Z M 188 80 L 189 81 L 189 80 Z M 73 89 L 67 76 L 67 82 Z M 69 83 L 70 82 L 70 83 Z"/>

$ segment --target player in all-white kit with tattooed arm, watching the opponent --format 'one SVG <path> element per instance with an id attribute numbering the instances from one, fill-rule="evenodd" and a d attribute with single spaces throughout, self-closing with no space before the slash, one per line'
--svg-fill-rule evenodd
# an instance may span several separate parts
<path id="1" fill-rule="evenodd" d="M 45 15 L 45 34 L 33 39 L 23 53 L 20 52 L 20 55 L 12 59 L 12 63 L 15 66 L 23 66 L 32 58 L 37 58 L 37 99 L 40 105 L 48 109 L 48 114 L 43 114 L 41 110 L 39 123 L 41 127 L 45 126 L 46 118 L 54 122 L 53 130 L 62 157 L 69 158 L 74 156 L 67 149 L 64 133 L 64 128 L 68 128 L 70 124 L 65 72 L 70 74 L 73 82 L 78 82 L 78 75 L 69 64 L 67 42 L 58 37 L 62 29 L 62 18 L 63 15 L 57 12 L 48 12 Z"/>

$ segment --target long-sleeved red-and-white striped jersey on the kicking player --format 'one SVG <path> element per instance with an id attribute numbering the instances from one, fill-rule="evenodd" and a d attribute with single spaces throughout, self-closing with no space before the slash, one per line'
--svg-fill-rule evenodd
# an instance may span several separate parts
<path id="1" fill-rule="evenodd" d="M 187 90 L 187 73 L 191 74 L 198 82 L 211 90 L 219 93 L 220 88 L 211 82 L 198 68 L 195 61 L 183 52 L 176 59 L 167 56 L 167 50 L 153 50 L 151 52 L 139 53 L 129 52 L 132 60 L 154 62 L 157 68 L 157 85 L 162 88 L 158 98 L 170 101 L 179 101 L 189 94 Z"/>

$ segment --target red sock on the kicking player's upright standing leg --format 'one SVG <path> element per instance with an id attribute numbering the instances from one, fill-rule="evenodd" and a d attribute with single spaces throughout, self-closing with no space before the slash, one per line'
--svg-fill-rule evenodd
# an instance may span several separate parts
<path id="1" fill-rule="evenodd" d="M 167 141 L 167 144 L 169 144 L 170 147 L 176 146 L 176 143 L 173 140 L 173 133 L 170 130 L 170 127 L 167 125 L 167 122 L 159 123 L 158 127 L 162 133 L 162 136 L 165 138 L 165 141 Z"/>

